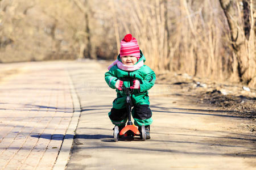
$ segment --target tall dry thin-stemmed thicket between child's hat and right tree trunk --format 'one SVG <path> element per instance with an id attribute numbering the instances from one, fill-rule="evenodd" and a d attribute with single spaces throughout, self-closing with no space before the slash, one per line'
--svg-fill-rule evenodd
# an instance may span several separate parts
<path id="1" fill-rule="evenodd" d="M 117 14 L 119 32 L 138 37 L 147 64 L 154 69 L 215 79 L 236 74 L 236 59 L 227 43 L 228 27 L 218 1 L 122 3 Z"/>

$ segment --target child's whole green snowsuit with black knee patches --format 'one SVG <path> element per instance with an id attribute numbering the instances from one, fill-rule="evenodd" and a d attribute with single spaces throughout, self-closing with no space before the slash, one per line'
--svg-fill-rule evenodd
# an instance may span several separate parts
<path id="1" fill-rule="evenodd" d="M 121 62 L 120 55 L 117 57 L 117 59 Z M 141 57 L 139 58 L 138 62 L 142 60 L 145 62 L 146 58 L 141 52 Z M 135 65 L 137 63 L 135 63 Z M 152 123 L 152 112 L 149 108 L 150 102 L 148 90 L 154 86 L 155 73 L 146 65 L 143 65 L 140 69 L 135 71 L 124 71 L 119 69 L 117 65 L 114 65 L 108 72 L 105 73 L 105 80 L 109 87 L 115 89 L 115 83 L 117 80 L 127 76 L 138 79 L 140 82 L 140 88 L 134 89 L 133 95 L 131 96 L 134 106 L 131 111 L 134 118 L 134 124 L 137 126 L 150 125 Z M 133 84 L 130 84 L 130 81 L 123 81 L 123 86 L 130 87 L 133 86 Z M 113 101 L 113 108 L 111 112 L 109 112 L 109 118 L 114 125 L 122 126 L 127 121 L 126 94 L 118 89 L 116 92 L 117 98 Z"/>

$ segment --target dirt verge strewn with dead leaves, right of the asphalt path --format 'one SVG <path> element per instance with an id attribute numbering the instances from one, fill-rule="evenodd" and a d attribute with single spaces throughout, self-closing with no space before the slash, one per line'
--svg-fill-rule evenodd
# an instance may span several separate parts
<path id="1" fill-rule="evenodd" d="M 170 84 L 193 104 L 208 105 L 223 114 L 249 118 L 246 128 L 256 130 L 256 89 L 231 82 L 214 82 L 187 74 L 157 74 L 157 83 Z"/>

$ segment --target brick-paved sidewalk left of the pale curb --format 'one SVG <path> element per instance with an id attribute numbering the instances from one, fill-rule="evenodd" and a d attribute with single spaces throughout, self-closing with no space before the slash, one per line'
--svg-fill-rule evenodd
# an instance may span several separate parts
<path id="1" fill-rule="evenodd" d="M 53 168 L 73 115 L 67 64 L 10 64 L 0 79 L 0 169 Z"/>

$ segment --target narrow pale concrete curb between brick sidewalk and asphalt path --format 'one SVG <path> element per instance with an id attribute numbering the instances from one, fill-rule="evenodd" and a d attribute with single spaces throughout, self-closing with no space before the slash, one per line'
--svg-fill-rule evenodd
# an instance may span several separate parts
<path id="1" fill-rule="evenodd" d="M 67 70 L 68 73 L 68 70 Z M 69 122 L 68 129 L 65 134 L 69 134 L 68 137 L 65 135 L 63 139 L 63 143 L 60 147 L 59 155 L 57 156 L 56 163 L 53 167 L 53 170 L 59 170 L 59 169 L 65 169 L 68 160 L 69 160 L 69 154 L 71 152 L 72 144 L 73 144 L 73 138 L 75 137 L 75 131 L 79 122 L 79 117 L 81 114 L 81 107 L 79 98 L 76 94 L 76 90 L 74 87 L 74 84 L 72 82 L 71 76 L 68 73 L 68 79 L 69 79 L 69 87 L 71 90 L 71 96 L 73 100 L 73 116 L 71 121 Z M 70 138 L 70 135 L 73 136 L 73 138 Z"/>

